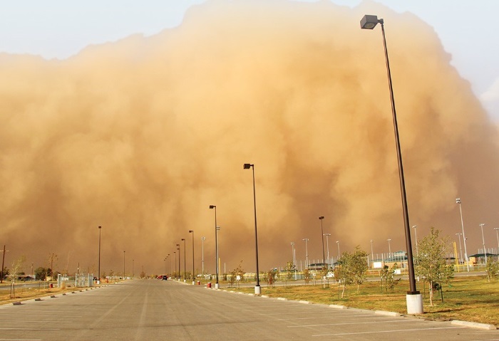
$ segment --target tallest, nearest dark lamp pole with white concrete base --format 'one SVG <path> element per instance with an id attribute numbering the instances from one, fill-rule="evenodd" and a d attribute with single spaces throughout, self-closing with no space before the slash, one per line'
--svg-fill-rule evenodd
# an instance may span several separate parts
<path id="1" fill-rule="evenodd" d="M 407 199 L 406 199 L 406 182 L 403 177 L 402 153 L 400 148 L 400 140 L 398 138 L 398 124 L 397 124 L 397 116 L 395 110 L 395 100 L 393 98 L 393 86 L 391 84 L 391 72 L 390 72 L 390 63 L 388 58 L 388 48 L 386 48 L 384 20 L 378 19 L 377 16 L 366 15 L 364 16 L 364 18 L 361 19 L 361 28 L 372 30 L 378 23 L 381 23 L 381 34 L 383 36 L 383 46 L 385 50 L 386 72 L 388 74 L 388 83 L 389 83 L 390 100 L 391 100 L 391 114 L 393 117 L 393 132 L 395 133 L 395 142 L 397 149 L 398 177 L 400 180 L 402 211 L 403 211 L 403 227 L 404 227 L 404 232 L 406 234 L 407 266 L 408 266 L 409 285 L 410 285 L 410 291 L 408 291 L 406 295 L 407 313 L 422 314 L 423 298 L 421 297 L 421 293 L 419 293 L 419 291 L 416 290 L 416 276 L 414 275 L 411 229 L 409 228 L 410 226 L 409 214 L 408 214 Z"/>

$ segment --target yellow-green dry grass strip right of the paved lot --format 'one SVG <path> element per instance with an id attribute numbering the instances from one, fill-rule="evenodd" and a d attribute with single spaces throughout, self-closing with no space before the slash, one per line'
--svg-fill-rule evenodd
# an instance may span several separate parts
<path id="1" fill-rule="evenodd" d="M 438 292 L 434 295 L 433 305 L 430 306 L 428 288 L 425 290 L 423 283 L 419 282 L 418 290 L 423 295 L 423 318 L 465 320 L 499 326 L 498 284 L 497 280 L 488 283 L 483 276 L 454 278 L 450 285 L 443 285 L 443 302 Z M 247 293 L 254 291 L 253 288 L 240 290 Z M 336 284 L 329 284 L 329 288 L 323 288 L 320 284 L 275 288 L 262 286 L 262 295 L 405 314 L 407 290 L 408 282 L 402 280 L 388 293 L 381 293 L 379 282 L 362 284 L 359 293 L 356 291 L 356 286 L 352 285 L 347 289 L 344 298 L 341 298 L 341 292 Z"/>

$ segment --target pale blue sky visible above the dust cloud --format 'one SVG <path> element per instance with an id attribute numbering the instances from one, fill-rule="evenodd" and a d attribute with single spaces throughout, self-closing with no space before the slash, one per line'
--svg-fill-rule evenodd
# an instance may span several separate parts
<path id="1" fill-rule="evenodd" d="M 314 2 L 316 0 L 302 0 Z M 331 0 L 356 6 L 358 0 Z M 68 58 L 96 43 L 133 33 L 153 35 L 178 26 L 185 10 L 204 0 L 0 0 L 0 51 L 44 58 Z M 410 11 L 433 26 L 452 63 L 484 107 L 499 122 L 499 43 L 495 38 L 497 0 L 379 0 Z"/>

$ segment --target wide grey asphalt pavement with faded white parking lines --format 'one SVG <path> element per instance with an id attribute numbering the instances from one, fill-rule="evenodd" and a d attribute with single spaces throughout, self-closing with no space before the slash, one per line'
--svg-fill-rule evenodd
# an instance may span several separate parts
<path id="1" fill-rule="evenodd" d="M 0 306 L 0 340 L 499 340 L 498 330 L 129 280 Z"/>

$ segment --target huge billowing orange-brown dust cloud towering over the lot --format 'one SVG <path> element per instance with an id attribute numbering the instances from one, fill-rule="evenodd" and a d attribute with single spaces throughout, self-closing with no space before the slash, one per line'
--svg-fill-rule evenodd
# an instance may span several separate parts
<path id="1" fill-rule="evenodd" d="M 449 65 L 433 29 L 366 2 L 207 1 L 177 28 L 89 46 L 63 61 L 0 56 L 0 226 L 10 256 L 96 273 L 182 268 L 254 271 L 255 164 L 260 269 L 356 245 L 405 249 L 383 43 L 385 19 L 409 218 L 468 253 L 498 224 L 497 128 Z M 493 232 L 489 231 L 490 238 Z M 493 239 L 491 239 L 493 240 Z M 176 256 L 175 256 L 176 257 Z M 27 269 L 25 268 L 27 271 Z"/>

